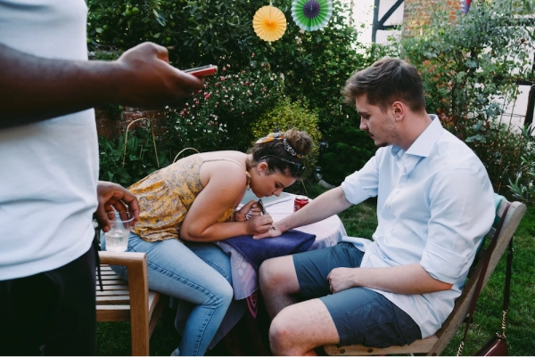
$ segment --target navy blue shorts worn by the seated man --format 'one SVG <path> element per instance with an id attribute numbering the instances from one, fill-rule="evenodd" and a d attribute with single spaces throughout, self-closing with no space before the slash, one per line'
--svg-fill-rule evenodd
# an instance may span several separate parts
<path id="1" fill-rule="evenodd" d="M 293 256 L 300 295 L 319 298 L 340 336 L 340 345 L 388 347 L 409 345 L 422 338 L 416 322 L 383 295 L 367 288 L 331 294 L 327 275 L 334 268 L 358 268 L 364 253 L 352 243 L 311 250 Z"/>

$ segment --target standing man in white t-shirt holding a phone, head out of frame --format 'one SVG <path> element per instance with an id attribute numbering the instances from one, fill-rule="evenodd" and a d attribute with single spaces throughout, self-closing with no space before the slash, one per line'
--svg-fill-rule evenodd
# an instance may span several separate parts
<path id="1" fill-rule="evenodd" d="M 95 356 L 95 231 L 136 198 L 98 182 L 95 106 L 202 88 L 138 45 L 87 61 L 84 0 L 0 0 L 0 356 Z"/>

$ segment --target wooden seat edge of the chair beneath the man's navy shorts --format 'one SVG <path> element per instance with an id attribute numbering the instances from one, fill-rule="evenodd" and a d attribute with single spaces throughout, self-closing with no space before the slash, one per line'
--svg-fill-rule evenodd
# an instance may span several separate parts
<path id="1" fill-rule="evenodd" d="M 337 347 L 336 345 L 325 345 L 325 353 L 330 356 L 359 356 L 374 354 L 402 354 L 402 353 L 426 353 L 431 351 L 439 338 L 435 335 L 416 340 L 410 345 L 393 345 L 387 348 L 366 347 L 364 345 L 348 345 Z"/>

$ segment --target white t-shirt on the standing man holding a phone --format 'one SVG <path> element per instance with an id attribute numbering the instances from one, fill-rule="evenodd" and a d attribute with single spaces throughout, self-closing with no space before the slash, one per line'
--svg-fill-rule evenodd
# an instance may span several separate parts
<path id="1" fill-rule="evenodd" d="M 86 61 L 86 16 L 84 0 L 0 0 L 0 43 Z M 0 129 L 0 280 L 53 270 L 86 253 L 97 180 L 94 110 Z"/>

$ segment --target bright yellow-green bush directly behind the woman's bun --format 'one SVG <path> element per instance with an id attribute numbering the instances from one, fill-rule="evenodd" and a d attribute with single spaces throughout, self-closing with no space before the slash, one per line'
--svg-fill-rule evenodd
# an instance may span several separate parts
<path id="1" fill-rule="evenodd" d="M 253 138 L 259 139 L 276 130 L 284 132 L 292 128 L 307 132 L 314 142 L 312 152 L 304 158 L 306 166 L 304 177 L 307 177 L 316 165 L 319 152 L 317 143 L 321 139 L 321 134 L 317 129 L 316 113 L 307 110 L 300 102 L 292 102 L 284 98 L 276 104 L 275 108 L 266 112 L 251 125 L 251 134 Z"/>

